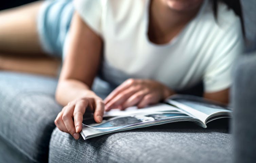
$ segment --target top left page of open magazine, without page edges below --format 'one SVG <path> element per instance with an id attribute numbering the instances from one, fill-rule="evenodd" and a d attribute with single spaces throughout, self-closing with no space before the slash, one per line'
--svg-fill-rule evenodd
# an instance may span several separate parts
<path id="1" fill-rule="evenodd" d="M 89 117 L 88 119 L 84 118 L 83 125 L 97 130 L 112 131 L 157 120 L 189 117 L 187 114 L 181 113 L 177 108 L 167 104 L 158 104 L 144 109 L 127 109 L 125 111 L 113 109 L 109 112 L 106 113 L 106 116 L 104 115 L 102 123 L 95 123 Z"/>

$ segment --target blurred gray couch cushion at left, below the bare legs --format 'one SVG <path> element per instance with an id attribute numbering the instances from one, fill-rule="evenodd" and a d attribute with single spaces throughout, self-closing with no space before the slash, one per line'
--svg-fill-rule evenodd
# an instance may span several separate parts
<path id="1" fill-rule="evenodd" d="M 10 155 L 12 150 L 1 147 L 1 158 L 20 154 L 27 162 L 48 161 L 54 119 L 61 109 L 54 100 L 56 84 L 49 77 L 0 72 L 0 139 L 5 148 L 16 149 Z"/>

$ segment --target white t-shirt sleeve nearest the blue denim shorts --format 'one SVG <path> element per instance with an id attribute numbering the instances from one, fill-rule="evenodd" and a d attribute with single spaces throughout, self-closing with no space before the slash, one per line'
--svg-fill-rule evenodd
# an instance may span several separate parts
<path id="1" fill-rule="evenodd" d="M 103 0 L 74 0 L 75 11 L 98 35 L 102 34 Z"/>

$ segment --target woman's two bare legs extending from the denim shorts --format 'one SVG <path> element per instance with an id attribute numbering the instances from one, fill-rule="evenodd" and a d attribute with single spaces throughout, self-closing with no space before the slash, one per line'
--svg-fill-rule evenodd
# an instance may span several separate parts
<path id="1" fill-rule="evenodd" d="M 57 75 L 60 61 L 46 57 L 39 42 L 36 19 L 42 2 L 0 11 L 0 69 Z"/>

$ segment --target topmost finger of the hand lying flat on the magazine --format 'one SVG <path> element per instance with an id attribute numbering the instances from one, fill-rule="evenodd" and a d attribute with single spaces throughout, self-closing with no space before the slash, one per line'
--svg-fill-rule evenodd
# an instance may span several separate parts
<path id="1" fill-rule="evenodd" d="M 116 97 L 118 94 L 120 94 L 125 89 L 129 88 L 131 85 L 134 85 L 136 81 L 134 79 L 128 79 L 125 82 L 123 82 L 120 86 L 115 88 L 108 97 L 105 98 L 104 103 L 107 104 L 110 100 L 112 100 L 114 97 Z"/>

